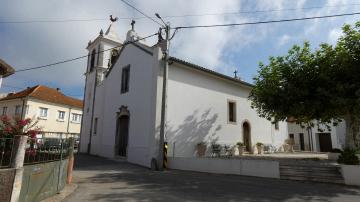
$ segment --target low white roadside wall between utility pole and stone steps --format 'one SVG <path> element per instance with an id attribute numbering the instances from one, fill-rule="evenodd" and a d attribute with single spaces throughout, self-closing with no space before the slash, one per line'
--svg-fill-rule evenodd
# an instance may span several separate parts
<path id="1" fill-rule="evenodd" d="M 171 169 L 280 179 L 278 161 L 169 157 Z"/>

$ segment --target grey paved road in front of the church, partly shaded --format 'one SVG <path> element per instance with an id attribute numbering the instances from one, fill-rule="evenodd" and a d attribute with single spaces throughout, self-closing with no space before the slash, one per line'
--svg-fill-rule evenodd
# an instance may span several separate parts
<path id="1" fill-rule="evenodd" d="M 80 201 L 360 201 L 360 188 L 185 171 L 156 172 L 78 155 L 65 199 Z"/>

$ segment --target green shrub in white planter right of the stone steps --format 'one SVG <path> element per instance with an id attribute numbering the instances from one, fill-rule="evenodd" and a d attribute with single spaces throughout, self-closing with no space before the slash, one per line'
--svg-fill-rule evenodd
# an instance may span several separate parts
<path id="1" fill-rule="evenodd" d="M 356 150 L 345 149 L 341 152 L 338 163 L 341 164 L 345 184 L 360 186 L 360 161 L 356 155 Z"/>

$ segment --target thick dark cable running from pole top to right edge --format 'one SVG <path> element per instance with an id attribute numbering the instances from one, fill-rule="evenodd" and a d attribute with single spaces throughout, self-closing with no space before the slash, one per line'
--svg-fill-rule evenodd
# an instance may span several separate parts
<path id="1" fill-rule="evenodd" d="M 193 28 L 230 27 L 230 26 L 243 26 L 243 25 L 270 24 L 270 23 L 280 23 L 280 22 L 292 22 L 292 21 L 303 21 L 303 20 L 313 20 L 313 19 L 352 16 L 352 15 L 359 15 L 359 14 L 360 14 L 360 12 L 357 12 L 357 13 L 343 13 L 343 14 L 337 14 L 337 15 L 314 16 L 314 17 L 305 17 L 305 18 L 292 18 L 292 19 L 283 19 L 283 20 L 258 21 L 258 22 L 229 23 L 229 24 L 215 24 L 215 25 L 179 26 L 179 27 L 174 27 L 172 29 L 193 29 Z"/>

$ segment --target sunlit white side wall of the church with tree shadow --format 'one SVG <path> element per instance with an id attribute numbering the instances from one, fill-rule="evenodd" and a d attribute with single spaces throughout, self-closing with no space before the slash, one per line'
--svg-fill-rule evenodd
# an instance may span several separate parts
<path id="1" fill-rule="evenodd" d="M 195 155 L 201 141 L 235 145 L 243 142 L 242 124 L 251 127 L 251 142 L 277 147 L 287 137 L 286 123 L 279 130 L 250 107 L 250 88 L 177 64 L 169 68 L 166 139 L 175 157 Z M 228 123 L 228 100 L 236 101 L 237 122 Z M 170 154 L 171 155 L 171 154 Z"/>

